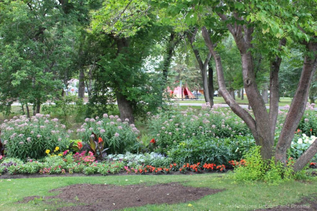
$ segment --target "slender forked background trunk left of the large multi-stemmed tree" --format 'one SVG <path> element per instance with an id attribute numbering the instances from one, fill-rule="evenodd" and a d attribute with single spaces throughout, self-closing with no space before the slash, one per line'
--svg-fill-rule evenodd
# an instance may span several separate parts
<path id="1" fill-rule="evenodd" d="M 207 77 L 207 66 L 211 57 L 211 53 L 209 53 L 207 55 L 207 58 L 205 59 L 204 63 L 201 60 L 199 51 L 197 50 L 197 48 L 194 45 L 194 41 L 195 41 L 195 37 L 197 34 L 198 28 L 195 28 L 195 31 L 193 33 L 189 32 L 187 33 L 188 39 L 190 40 L 191 43 L 191 48 L 195 54 L 195 57 L 197 59 L 198 65 L 199 65 L 199 69 L 201 72 L 201 77 L 203 80 L 203 88 L 204 88 L 204 98 L 206 102 L 209 102 L 211 105 L 213 104 L 212 102 L 212 98 L 210 98 L 210 94 L 209 94 L 209 87 L 208 87 L 208 77 Z"/>

